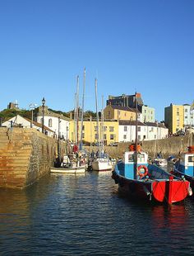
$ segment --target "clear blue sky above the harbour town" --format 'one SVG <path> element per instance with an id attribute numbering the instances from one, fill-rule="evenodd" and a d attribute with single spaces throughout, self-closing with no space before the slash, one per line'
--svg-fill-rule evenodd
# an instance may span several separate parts
<path id="1" fill-rule="evenodd" d="M 86 69 L 85 110 L 101 97 L 141 92 L 164 120 L 170 103 L 192 103 L 192 0 L 0 1 L 0 110 L 18 101 L 74 107 Z"/>

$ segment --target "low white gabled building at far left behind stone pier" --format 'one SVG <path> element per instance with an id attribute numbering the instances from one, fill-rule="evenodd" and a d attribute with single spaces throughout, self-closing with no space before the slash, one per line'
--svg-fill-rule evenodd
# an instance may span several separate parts
<path id="1" fill-rule="evenodd" d="M 2 122 L 2 126 L 6 126 L 8 128 L 11 128 L 11 127 L 34 128 L 35 130 L 39 130 L 42 132 L 42 124 L 36 121 L 33 121 L 33 123 L 31 123 L 30 119 L 20 115 L 16 115 L 8 119 L 7 121 Z M 54 135 L 53 130 L 49 129 L 47 126 L 44 126 L 44 130 L 48 136 L 53 137 Z"/>

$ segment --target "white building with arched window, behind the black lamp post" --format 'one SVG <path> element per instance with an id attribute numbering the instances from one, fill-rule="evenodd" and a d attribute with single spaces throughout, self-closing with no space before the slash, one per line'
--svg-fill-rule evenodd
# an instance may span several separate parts
<path id="1" fill-rule="evenodd" d="M 39 107 L 36 119 L 39 123 L 43 123 L 42 107 Z M 44 107 L 44 126 L 48 126 L 48 128 L 52 129 L 54 134 L 59 138 L 63 138 L 65 140 L 69 139 L 69 121 L 70 119 L 66 116 L 49 111 L 48 107 Z"/>

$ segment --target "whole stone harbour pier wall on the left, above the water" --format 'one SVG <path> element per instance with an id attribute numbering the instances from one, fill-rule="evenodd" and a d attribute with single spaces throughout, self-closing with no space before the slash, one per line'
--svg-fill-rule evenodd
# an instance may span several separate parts
<path id="1" fill-rule="evenodd" d="M 65 145 L 60 141 L 61 155 Z M 35 129 L 0 128 L 0 187 L 25 188 L 49 173 L 58 141 Z"/>

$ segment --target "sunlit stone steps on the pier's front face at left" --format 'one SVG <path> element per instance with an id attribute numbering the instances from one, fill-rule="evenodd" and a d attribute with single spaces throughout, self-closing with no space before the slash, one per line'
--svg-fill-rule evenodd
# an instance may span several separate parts
<path id="1" fill-rule="evenodd" d="M 31 149 L 29 135 L 0 133 L 0 187 L 24 186 Z"/>

